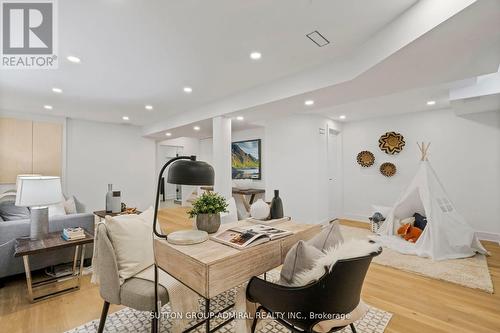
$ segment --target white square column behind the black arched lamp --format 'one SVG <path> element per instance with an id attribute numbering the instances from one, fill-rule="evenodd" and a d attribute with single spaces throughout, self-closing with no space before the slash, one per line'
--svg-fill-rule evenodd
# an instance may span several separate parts
<path id="1" fill-rule="evenodd" d="M 215 169 L 214 190 L 226 199 L 232 196 L 231 179 L 231 119 L 212 119 L 213 163 Z"/>

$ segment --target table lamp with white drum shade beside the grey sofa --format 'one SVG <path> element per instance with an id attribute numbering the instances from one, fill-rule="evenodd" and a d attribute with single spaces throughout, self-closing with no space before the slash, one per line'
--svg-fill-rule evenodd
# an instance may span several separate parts
<path id="1" fill-rule="evenodd" d="M 16 206 L 30 207 L 30 238 L 41 239 L 49 233 L 48 205 L 63 200 L 61 178 L 21 176 L 17 179 Z"/>

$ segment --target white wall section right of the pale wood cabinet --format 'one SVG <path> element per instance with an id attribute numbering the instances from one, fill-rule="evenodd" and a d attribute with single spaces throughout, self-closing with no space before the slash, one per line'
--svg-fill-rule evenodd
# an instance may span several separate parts
<path id="1" fill-rule="evenodd" d="M 68 119 L 66 163 L 66 191 L 87 211 L 104 209 L 108 183 L 130 207 L 154 203 L 155 142 L 139 127 Z"/>

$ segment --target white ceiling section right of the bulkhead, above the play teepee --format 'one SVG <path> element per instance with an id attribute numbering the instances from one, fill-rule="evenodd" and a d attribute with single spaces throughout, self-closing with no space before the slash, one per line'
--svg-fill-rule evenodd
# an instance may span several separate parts
<path id="1" fill-rule="evenodd" d="M 478 24 L 481 21 L 482 24 Z M 450 106 L 449 90 L 500 64 L 500 2 L 483 1 L 443 22 L 352 80 L 239 110 L 251 121 L 317 113 L 347 121 Z M 312 107 L 304 101 L 315 101 Z M 435 100 L 434 106 L 427 106 Z M 489 101 L 489 103 L 487 103 Z M 495 98 L 483 98 L 491 109 Z M 470 107 L 479 104 L 467 103 Z"/>

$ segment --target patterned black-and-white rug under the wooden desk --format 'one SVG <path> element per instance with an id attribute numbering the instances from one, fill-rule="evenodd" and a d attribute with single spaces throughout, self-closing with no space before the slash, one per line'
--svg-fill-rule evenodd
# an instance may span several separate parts
<path id="1" fill-rule="evenodd" d="M 229 290 L 221 295 L 211 299 L 210 305 L 212 311 L 219 311 L 225 308 L 228 304 L 234 301 L 235 291 Z M 200 300 L 200 312 L 204 307 L 203 302 Z M 170 305 L 167 304 L 162 308 L 162 313 L 166 314 L 170 311 Z M 385 331 L 392 314 L 374 307 L 370 307 L 366 315 L 360 320 L 356 321 L 354 325 L 359 333 L 382 333 Z M 226 318 L 215 318 L 211 321 L 211 327 L 217 326 Z M 192 322 L 194 324 L 195 322 Z M 93 320 L 83 324 L 77 328 L 67 331 L 66 333 L 94 333 L 97 332 L 99 320 Z M 137 332 L 147 333 L 151 331 L 151 320 L 149 312 L 136 311 L 131 308 L 125 308 L 115 313 L 108 315 L 106 319 L 105 332 L 125 333 Z M 172 332 L 172 319 L 164 319 L 160 321 L 160 332 Z M 192 332 L 203 333 L 205 328 L 198 327 Z M 241 333 L 235 332 L 234 322 L 222 327 L 217 332 L 221 333 Z M 285 327 L 281 326 L 275 321 L 268 321 L 268 323 L 259 331 L 260 333 L 288 333 L 290 332 Z M 351 333 L 349 327 L 339 331 L 341 333 Z"/>

